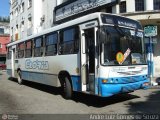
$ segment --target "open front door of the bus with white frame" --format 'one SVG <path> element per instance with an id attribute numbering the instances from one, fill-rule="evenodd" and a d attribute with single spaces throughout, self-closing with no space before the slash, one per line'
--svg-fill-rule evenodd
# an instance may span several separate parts
<path id="1" fill-rule="evenodd" d="M 81 85 L 82 91 L 95 93 L 97 78 L 96 31 L 97 21 L 85 23 L 81 29 Z"/>

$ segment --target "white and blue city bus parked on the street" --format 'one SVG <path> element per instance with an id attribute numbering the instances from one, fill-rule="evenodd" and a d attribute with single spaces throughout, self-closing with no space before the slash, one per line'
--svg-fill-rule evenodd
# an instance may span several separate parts
<path id="1" fill-rule="evenodd" d="M 7 73 L 23 80 L 100 97 L 149 87 L 138 21 L 102 12 L 56 25 L 7 45 Z"/>

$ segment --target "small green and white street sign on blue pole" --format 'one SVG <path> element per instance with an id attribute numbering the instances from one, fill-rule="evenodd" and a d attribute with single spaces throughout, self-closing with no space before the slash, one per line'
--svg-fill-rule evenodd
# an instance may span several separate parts
<path id="1" fill-rule="evenodd" d="M 144 27 L 144 36 L 145 37 L 153 37 L 157 36 L 157 26 L 148 25 Z"/>

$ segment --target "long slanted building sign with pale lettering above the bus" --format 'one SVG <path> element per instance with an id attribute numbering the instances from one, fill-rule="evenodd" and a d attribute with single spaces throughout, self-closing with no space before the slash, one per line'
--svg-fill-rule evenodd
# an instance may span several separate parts
<path id="1" fill-rule="evenodd" d="M 117 0 L 76 0 L 55 11 L 55 22 L 116 1 Z"/>

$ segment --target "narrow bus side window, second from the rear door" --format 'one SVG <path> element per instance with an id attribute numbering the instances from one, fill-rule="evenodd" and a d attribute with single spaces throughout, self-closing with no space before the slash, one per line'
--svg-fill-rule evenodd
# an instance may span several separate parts
<path id="1" fill-rule="evenodd" d="M 25 57 L 32 57 L 32 40 L 26 42 Z"/>

